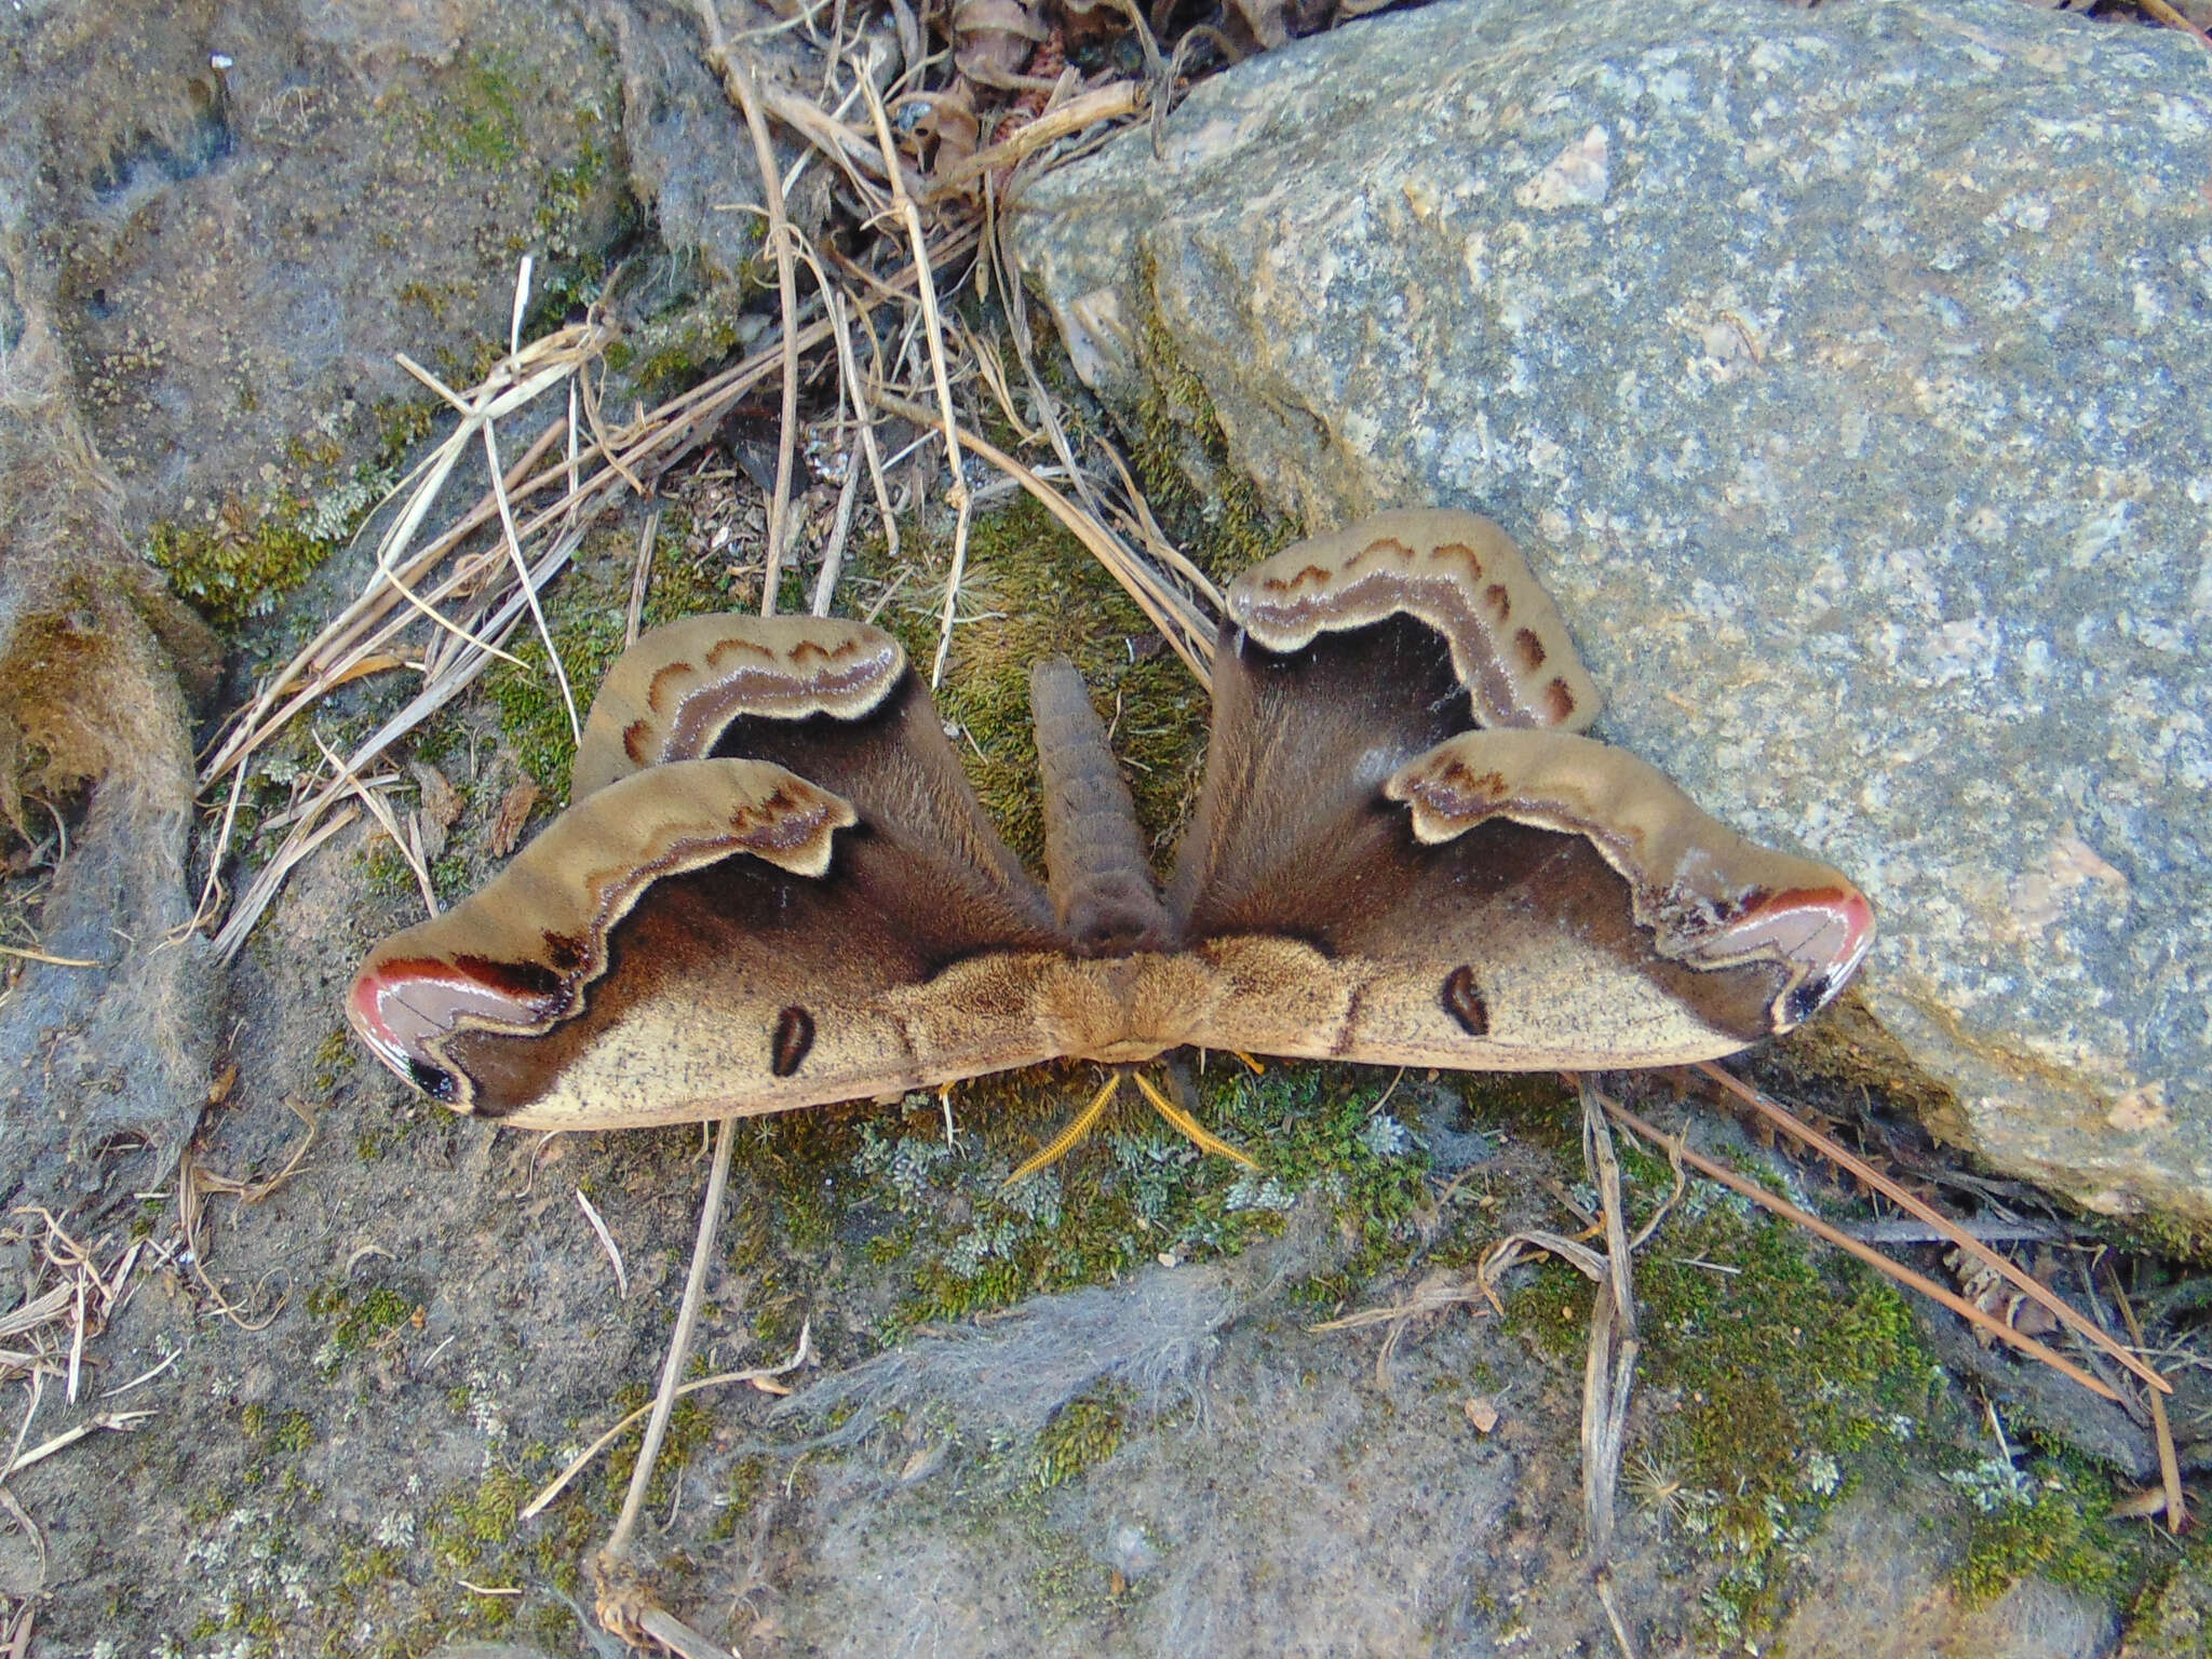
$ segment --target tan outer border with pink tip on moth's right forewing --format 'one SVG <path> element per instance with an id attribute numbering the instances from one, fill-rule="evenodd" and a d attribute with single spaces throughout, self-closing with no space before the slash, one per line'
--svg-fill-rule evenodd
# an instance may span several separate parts
<path id="1" fill-rule="evenodd" d="M 1566 732 L 1467 732 L 1383 785 L 1425 845 L 1486 818 L 1584 836 L 1628 883 L 1655 949 L 1694 969 L 1776 962 L 1776 1031 L 1809 1018 L 1874 942 L 1874 907 L 1829 865 L 1745 841 L 1635 754 Z"/>

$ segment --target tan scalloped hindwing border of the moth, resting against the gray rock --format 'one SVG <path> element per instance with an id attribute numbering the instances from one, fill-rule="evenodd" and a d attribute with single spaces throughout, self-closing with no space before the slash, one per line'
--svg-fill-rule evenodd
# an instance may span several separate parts
<path id="1" fill-rule="evenodd" d="M 1559 608 L 1513 538 L 1475 513 L 1376 513 L 1294 542 L 1239 575 L 1228 604 L 1276 653 L 1407 613 L 1451 644 L 1482 726 L 1579 732 L 1597 719 L 1597 681 Z"/>

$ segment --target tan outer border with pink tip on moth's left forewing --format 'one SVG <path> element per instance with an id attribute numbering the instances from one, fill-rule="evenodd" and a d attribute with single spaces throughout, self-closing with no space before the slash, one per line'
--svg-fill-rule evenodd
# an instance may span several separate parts
<path id="1" fill-rule="evenodd" d="M 619 779 L 460 905 L 378 945 L 347 1013 L 387 1066 L 467 1106 L 445 1037 L 564 1020 L 606 969 L 615 922 L 655 880 L 730 854 L 823 876 L 832 836 L 854 823 L 843 796 L 765 761 L 677 761 Z M 425 1075 L 445 1077 L 442 1091 Z"/>

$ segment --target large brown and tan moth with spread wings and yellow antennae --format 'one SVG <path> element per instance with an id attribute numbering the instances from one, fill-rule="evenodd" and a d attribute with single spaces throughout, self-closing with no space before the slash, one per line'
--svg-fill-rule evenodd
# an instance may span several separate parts
<path id="1" fill-rule="evenodd" d="M 1380 513 L 1230 586 L 1166 889 L 1075 668 L 1037 664 L 1031 697 L 1042 887 L 887 633 L 657 628 L 591 708 L 568 810 L 372 951 L 354 1029 L 529 1128 L 1183 1046 L 1601 1071 L 1790 1031 L 1874 938 L 1840 872 L 1586 737 L 1566 624 L 1471 513 Z"/>

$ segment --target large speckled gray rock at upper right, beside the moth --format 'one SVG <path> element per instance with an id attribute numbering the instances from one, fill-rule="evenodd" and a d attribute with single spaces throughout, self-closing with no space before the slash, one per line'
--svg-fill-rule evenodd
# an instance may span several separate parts
<path id="1" fill-rule="evenodd" d="M 2212 1219 L 2212 91 L 2006 0 L 1451 0 L 1252 60 L 1015 243 L 1312 526 L 1504 522 L 1599 728 L 1874 894 L 1949 1133 Z"/>

